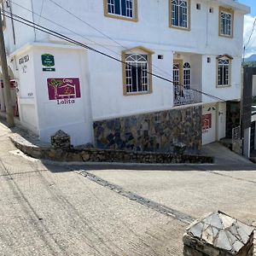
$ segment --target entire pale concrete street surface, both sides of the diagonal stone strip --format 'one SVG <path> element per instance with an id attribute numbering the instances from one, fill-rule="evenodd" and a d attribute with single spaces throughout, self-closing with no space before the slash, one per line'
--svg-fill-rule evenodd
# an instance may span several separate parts
<path id="1" fill-rule="evenodd" d="M 79 174 L 20 154 L 8 133 L 0 124 L 0 255 L 179 256 L 183 216 L 219 209 L 256 224 L 256 168 L 248 162 L 79 166 Z"/>

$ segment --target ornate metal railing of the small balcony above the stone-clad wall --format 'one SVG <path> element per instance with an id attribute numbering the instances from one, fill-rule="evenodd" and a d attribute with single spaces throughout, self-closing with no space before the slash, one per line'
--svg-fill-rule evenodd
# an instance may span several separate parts
<path id="1" fill-rule="evenodd" d="M 185 88 L 185 86 L 174 86 L 174 106 L 181 106 L 201 102 L 199 92 Z"/>

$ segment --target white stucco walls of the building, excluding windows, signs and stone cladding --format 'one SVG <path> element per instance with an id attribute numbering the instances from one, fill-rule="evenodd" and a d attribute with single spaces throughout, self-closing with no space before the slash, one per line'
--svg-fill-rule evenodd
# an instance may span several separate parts
<path id="1" fill-rule="evenodd" d="M 184 62 L 189 61 L 191 64 L 191 84 L 194 89 L 202 90 L 224 101 L 241 97 L 243 15 L 248 9 L 232 0 L 191 0 L 190 31 L 169 27 L 168 0 L 139 0 L 137 22 L 105 17 L 102 0 L 79 0 L 75 3 L 60 0 L 58 2 L 85 23 L 88 22 L 98 31 L 113 38 L 115 42 L 49 1 L 44 2 L 43 9 L 43 0 L 16 0 L 16 2 L 27 9 L 33 9 L 35 13 L 32 15 L 29 11 L 13 4 L 15 14 L 34 20 L 57 32 L 63 32 L 119 60 L 124 49 L 143 46 L 153 50 L 153 73 L 166 79 L 172 80 L 173 54 L 180 54 Z M 196 3 L 201 3 L 201 10 L 195 8 Z M 218 36 L 219 5 L 235 9 L 234 38 Z M 210 7 L 213 8 L 213 14 L 209 13 Z M 40 14 L 41 10 L 42 17 L 39 18 L 37 14 Z M 44 20 L 44 17 L 63 27 Z M 21 67 L 18 67 L 20 119 L 32 131 L 37 131 L 44 141 L 49 141 L 50 135 L 62 129 L 72 136 L 73 144 L 90 143 L 92 142 L 92 119 L 108 119 L 173 107 L 172 83 L 153 77 L 153 93 L 124 96 L 122 65 L 118 61 L 110 60 L 93 51 L 85 53 L 84 49 L 65 46 L 67 42 L 43 32 L 35 32 L 33 28 L 17 22 L 15 22 L 16 44 L 14 44 L 10 20 L 7 21 L 5 38 L 9 53 L 13 53 L 16 61 L 25 54 L 22 48 L 25 44 L 34 41 L 47 43 L 30 49 L 29 54 L 32 59 L 27 63 L 26 73 L 22 73 Z M 55 55 L 55 73 L 43 73 L 40 58 L 44 53 Z M 224 54 L 234 58 L 231 68 L 231 86 L 218 88 L 216 87 L 216 56 Z M 163 55 L 164 59 L 159 60 L 158 55 Z M 207 57 L 211 57 L 210 63 L 207 63 Z M 77 99 L 74 105 L 58 106 L 48 99 L 46 80 L 65 77 L 80 79 L 82 97 Z M 202 96 L 202 102 L 215 104 L 214 102 L 218 102 L 218 99 Z M 221 127 L 224 128 L 224 125 Z M 218 127 L 220 137 L 223 135 L 220 132 L 221 127 Z M 213 137 L 213 131 L 211 132 Z M 78 134 L 81 134 L 81 137 L 78 137 Z"/>

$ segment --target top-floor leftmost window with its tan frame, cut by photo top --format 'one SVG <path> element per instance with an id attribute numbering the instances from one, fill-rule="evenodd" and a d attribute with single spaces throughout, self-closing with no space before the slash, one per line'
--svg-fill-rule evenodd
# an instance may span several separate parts
<path id="1" fill-rule="evenodd" d="M 137 0 L 104 0 L 105 15 L 137 21 Z"/>

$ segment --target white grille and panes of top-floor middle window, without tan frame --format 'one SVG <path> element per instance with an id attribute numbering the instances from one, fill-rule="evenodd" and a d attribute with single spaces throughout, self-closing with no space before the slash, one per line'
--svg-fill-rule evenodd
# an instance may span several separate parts
<path id="1" fill-rule="evenodd" d="M 172 0 L 172 26 L 189 27 L 187 0 Z"/>

